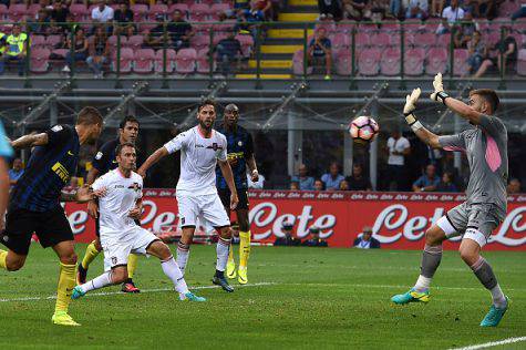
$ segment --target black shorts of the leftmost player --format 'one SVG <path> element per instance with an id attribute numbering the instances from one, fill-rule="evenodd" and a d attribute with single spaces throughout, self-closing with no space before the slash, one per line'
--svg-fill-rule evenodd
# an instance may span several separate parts
<path id="1" fill-rule="evenodd" d="M 1 243 L 20 255 L 28 255 L 31 236 L 37 234 L 40 245 L 44 248 L 61 241 L 74 240 L 70 222 L 64 209 L 56 207 L 48 212 L 32 212 L 23 208 L 8 210 L 6 230 L 1 234 Z"/>

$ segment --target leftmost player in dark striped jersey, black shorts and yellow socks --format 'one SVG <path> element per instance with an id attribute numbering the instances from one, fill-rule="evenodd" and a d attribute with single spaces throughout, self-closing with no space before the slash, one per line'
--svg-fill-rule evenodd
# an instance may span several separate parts
<path id="1" fill-rule="evenodd" d="M 70 296 L 75 286 L 76 255 L 70 223 L 60 200 L 87 202 L 93 198 L 89 187 L 64 194 L 62 188 L 75 175 L 79 150 L 101 135 L 102 116 L 94 107 L 79 112 L 74 126 L 59 124 L 44 133 L 22 136 L 11 143 L 13 148 L 34 147 L 24 174 L 11 192 L 6 230 L 1 243 L 0 268 L 16 271 L 28 257 L 33 233 L 42 247 L 52 247 L 60 260 L 59 287 L 52 322 L 80 326 L 69 315 Z M 3 213 L 1 213 L 3 215 Z"/>

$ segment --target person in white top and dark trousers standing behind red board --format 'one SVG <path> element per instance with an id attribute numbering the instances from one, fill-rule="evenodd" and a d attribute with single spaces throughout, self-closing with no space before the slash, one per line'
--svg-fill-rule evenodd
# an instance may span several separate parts
<path id="1" fill-rule="evenodd" d="M 390 191 L 404 189 L 405 181 L 405 158 L 411 153 L 411 144 L 409 140 L 402 136 L 400 131 L 395 130 L 388 138 L 385 150 L 389 153 L 388 158 L 388 186 Z"/>

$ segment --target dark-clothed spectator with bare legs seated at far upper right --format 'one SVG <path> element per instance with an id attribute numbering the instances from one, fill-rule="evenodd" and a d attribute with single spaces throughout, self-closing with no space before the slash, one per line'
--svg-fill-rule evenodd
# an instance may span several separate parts
<path id="1" fill-rule="evenodd" d="M 481 78 L 491 66 L 496 66 L 498 71 L 503 69 L 502 74 L 506 74 L 506 70 L 515 69 L 518 56 L 517 41 L 512 35 L 509 27 L 503 27 L 503 38 L 492 49 L 497 51 L 496 58 L 485 59 L 474 78 Z"/>

